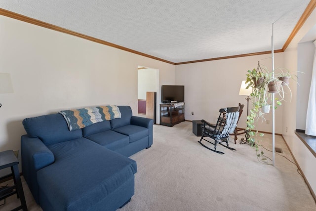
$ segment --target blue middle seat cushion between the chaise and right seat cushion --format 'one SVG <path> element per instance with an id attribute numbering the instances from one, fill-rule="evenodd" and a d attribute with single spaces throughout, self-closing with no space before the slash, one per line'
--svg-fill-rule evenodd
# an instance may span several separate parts
<path id="1" fill-rule="evenodd" d="M 86 137 L 110 150 L 117 150 L 129 144 L 129 137 L 113 130 L 100 132 Z"/>

